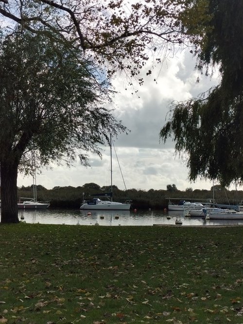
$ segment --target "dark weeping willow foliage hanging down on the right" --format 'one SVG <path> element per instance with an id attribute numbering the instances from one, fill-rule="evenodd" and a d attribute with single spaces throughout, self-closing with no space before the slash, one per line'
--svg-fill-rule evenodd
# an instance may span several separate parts
<path id="1" fill-rule="evenodd" d="M 186 153 L 190 180 L 243 183 L 243 1 L 209 0 L 209 14 L 195 55 L 202 72 L 219 69 L 219 85 L 173 104 L 160 139 L 173 137 L 176 152 Z"/>

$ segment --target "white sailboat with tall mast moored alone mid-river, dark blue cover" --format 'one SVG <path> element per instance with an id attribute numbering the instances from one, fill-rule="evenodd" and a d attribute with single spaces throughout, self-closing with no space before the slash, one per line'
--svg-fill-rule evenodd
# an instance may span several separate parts
<path id="1" fill-rule="evenodd" d="M 129 210 L 131 207 L 131 200 L 125 202 L 113 201 L 112 192 L 112 144 L 110 136 L 110 180 L 111 180 L 111 191 L 109 193 L 101 193 L 93 196 L 105 196 L 109 197 L 109 200 L 101 200 L 100 198 L 93 198 L 92 200 L 84 200 L 81 204 L 81 210 Z"/>

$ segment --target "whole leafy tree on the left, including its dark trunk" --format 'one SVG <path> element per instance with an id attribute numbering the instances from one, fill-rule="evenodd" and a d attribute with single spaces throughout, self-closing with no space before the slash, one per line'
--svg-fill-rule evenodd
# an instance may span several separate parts
<path id="1" fill-rule="evenodd" d="M 123 131 L 104 108 L 108 84 L 93 76 L 78 49 L 29 33 L 3 37 L 0 48 L 1 222 L 18 222 L 17 172 L 100 154 L 109 133 Z M 99 82 L 100 81 L 100 82 Z M 37 165 L 36 165 L 37 167 Z"/>

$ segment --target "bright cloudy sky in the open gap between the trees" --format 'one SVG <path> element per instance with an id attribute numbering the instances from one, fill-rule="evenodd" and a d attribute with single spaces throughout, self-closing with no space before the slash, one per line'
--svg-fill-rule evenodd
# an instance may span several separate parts
<path id="1" fill-rule="evenodd" d="M 145 76 L 142 87 L 132 94 L 125 79 L 120 76 L 115 82 L 118 93 L 114 98 L 114 114 L 122 120 L 131 132 L 113 139 L 121 171 L 113 150 L 113 184 L 124 190 L 166 189 L 167 184 L 175 184 L 177 189 L 210 189 L 212 183 L 188 180 L 188 170 L 183 159 L 174 156 L 174 143 L 159 143 L 159 131 L 168 118 L 169 104 L 172 101 L 186 100 L 197 96 L 218 83 L 217 73 L 212 78 L 203 77 L 194 70 L 195 60 L 189 49 L 168 57 L 162 69 L 154 69 L 151 76 Z M 151 68 L 147 66 L 144 74 Z M 200 82 L 196 83 L 197 77 Z M 156 82 L 154 79 L 156 78 Z M 54 186 L 82 186 L 94 182 L 100 186 L 110 184 L 110 150 L 104 147 L 103 159 L 90 156 L 90 167 L 76 165 L 72 168 L 52 165 L 52 170 L 44 169 L 37 176 L 36 183 L 47 189 Z M 31 177 L 18 177 L 18 186 L 32 184 Z"/>

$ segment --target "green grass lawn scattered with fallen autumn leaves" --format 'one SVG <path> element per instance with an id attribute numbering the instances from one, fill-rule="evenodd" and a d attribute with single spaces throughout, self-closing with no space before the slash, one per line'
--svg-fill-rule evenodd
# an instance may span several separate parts
<path id="1" fill-rule="evenodd" d="M 0 225 L 0 323 L 243 323 L 243 227 Z"/>

